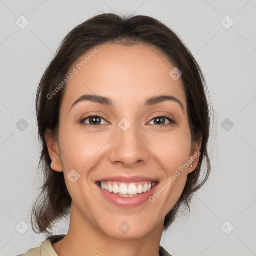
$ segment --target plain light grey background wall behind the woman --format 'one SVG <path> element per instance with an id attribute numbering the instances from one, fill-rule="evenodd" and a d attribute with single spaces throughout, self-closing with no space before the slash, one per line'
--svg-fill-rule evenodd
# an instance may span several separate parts
<path id="1" fill-rule="evenodd" d="M 0 255 L 44 241 L 27 216 L 40 184 L 36 87 L 64 36 L 103 12 L 149 15 L 173 29 L 202 68 L 215 110 L 210 178 L 161 244 L 174 256 L 256 255 L 255 10 L 255 0 L 0 0 Z M 62 221 L 55 233 L 67 230 Z"/>

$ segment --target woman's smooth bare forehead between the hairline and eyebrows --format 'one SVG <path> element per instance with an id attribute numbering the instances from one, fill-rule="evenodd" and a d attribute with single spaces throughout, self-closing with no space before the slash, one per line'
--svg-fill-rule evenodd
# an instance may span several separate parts
<path id="1" fill-rule="evenodd" d="M 169 75 L 174 67 L 154 46 L 96 46 L 80 56 L 70 69 L 75 68 L 77 73 L 66 85 L 63 107 L 70 107 L 82 94 L 107 96 L 114 102 L 130 104 L 167 94 L 177 97 L 186 109 L 182 80 Z"/>

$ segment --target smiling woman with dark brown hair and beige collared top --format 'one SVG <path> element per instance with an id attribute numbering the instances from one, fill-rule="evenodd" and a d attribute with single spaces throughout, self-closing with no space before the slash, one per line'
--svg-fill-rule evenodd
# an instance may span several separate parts
<path id="1" fill-rule="evenodd" d="M 45 180 L 31 220 L 51 236 L 22 256 L 170 255 L 162 231 L 210 172 L 205 88 L 152 17 L 104 13 L 75 27 L 36 95 Z M 68 213 L 68 233 L 52 235 Z"/>

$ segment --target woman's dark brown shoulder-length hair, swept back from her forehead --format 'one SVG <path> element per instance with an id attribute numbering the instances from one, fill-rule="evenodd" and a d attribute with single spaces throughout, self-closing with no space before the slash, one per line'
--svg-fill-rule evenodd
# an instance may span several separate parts
<path id="1" fill-rule="evenodd" d="M 181 204 L 188 206 L 192 194 L 207 180 L 210 173 L 210 160 L 207 153 L 210 117 L 205 96 L 206 83 L 202 71 L 191 52 L 179 37 L 160 21 L 144 15 L 123 16 L 103 13 L 94 16 L 73 28 L 63 39 L 57 53 L 46 68 L 36 94 L 36 116 L 38 123 L 38 137 L 42 143 L 42 150 L 38 169 L 42 166 L 44 180 L 31 208 L 32 229 L 36 233 L 52 234 L 52 224 L 66 217 L 70 213 L 71 197 L 66 188 L 63 172 L 51 168 L 44 133 L 47 128 L 58 134 L 59 108 L 65 92 L 65 86 L 54 97 L 49 95 L 61 84 L 70 68 L 78 57 L 89 49 L 104 43 L 118 43 L 132 45 L 143 43 L 155 46 L 170 59 L 172 64 L 182 71 L 182 83 L 185 90 L 189 127 L 192 142 L 199 142 L 201 132 L 201 148 L 198 165 L 188 174 L 184 190 L 168 212 L 164 220 L 166 230 L 175 219 Z M 66 82 L 67 83 L 67 82 Z M 66 84 L 65 83 L 65 84 Z M 63 83 L 62 83 L 63 84 Z M 57 135 L 58 137 L 58 135 Z M 198 183 L 202 160 L 205 159 L 205 177 Z"/>

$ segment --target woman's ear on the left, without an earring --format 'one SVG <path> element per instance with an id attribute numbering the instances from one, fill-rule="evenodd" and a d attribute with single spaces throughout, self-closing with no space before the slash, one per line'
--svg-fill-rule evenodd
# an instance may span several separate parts
<path id="1" fill-rule="evenodd" d="M 48 152 L 51 159 L 51 168 L 55 171 L 63 171 L 63 166 L 61 162 L 61 157 L 59 153 L 58 143 L 56 136 L 53 134 L 53 132 L 50 129 L 46 129 L 44 133 L 44 137 L 47 143 Z"/>

